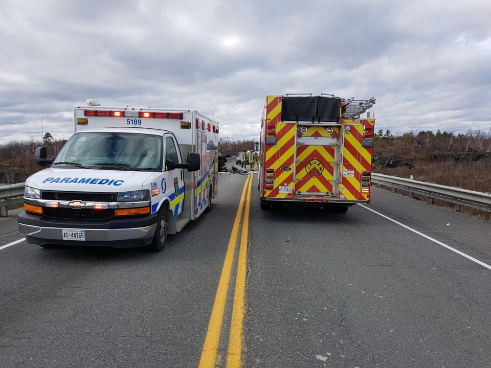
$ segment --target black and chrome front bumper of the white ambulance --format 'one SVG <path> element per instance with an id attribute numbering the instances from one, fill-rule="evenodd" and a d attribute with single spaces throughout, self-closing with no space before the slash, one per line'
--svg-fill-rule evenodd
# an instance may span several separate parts
<path id="1" fill-rule="evenodd" d="M 26 237 L 28 243 L 128 248 L 151 243 L 157 227 L 157 218 L 158 214 L 155 213 L 144 217 L 107 221 L 68 221 L 21 212 L 17 220 L 19 232 Z M 63 240 L 63 229 L 83 230 L 85 240 Z"/>

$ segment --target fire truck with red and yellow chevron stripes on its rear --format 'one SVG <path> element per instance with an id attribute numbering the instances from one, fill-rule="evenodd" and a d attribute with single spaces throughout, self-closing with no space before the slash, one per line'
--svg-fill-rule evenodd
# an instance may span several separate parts
<path id="1" fill-rule="evenodd" d="M 261 121 L 258 188 L 262 210 L 283 204 L 344 213 L 369 203 L 375 99 L 267 96 Z"/>

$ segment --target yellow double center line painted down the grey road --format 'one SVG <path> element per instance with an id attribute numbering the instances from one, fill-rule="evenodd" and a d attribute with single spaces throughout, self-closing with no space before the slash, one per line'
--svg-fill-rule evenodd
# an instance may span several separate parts
<path id="1" fill-rule="evenodd" d="M 232 307 L 232 319 L 230 323 L 229 347 L 227 351 L 227 368 L 240 368 L 242 351 L 242 324 L 244 319 L 244 295 L 245 295 L 245 272 L 247 260 L 247 238 L 249 229 L 249 211 L 251 204 L 251 187 L 253 175 L 248 175 L 244 189 L 240 197 L 239 208 L 235 215 L 232 234 L 225 256 L 224 267 L 221 270 L 220 281 L 216 291 L 215 302 L 211 312 L 208 332 L 198 368 L 214 368 L 217 360 L 218 342 L 220 330 L 224 318 L 227 292 L 230 283 L 232 264 L 234 262 L 235 248 L 238 240 L 239 227 L 242 224 L 240 235 L 240 248 L 237 261 L 237 275 L 235 278 L 234 304 Z M 244 211 L 245 206 L 245 211 Z M 242 218 L 243 213 L 243 218 Z"/>

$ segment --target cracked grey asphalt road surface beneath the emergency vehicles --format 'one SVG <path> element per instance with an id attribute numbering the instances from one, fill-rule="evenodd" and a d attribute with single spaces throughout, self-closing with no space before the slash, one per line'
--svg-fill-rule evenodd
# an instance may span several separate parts
<path id="1" fill-rule="evenodd" d="M 198 367 L 246 177 L 221 173 L 162 252 L 0 249 L 0 366 Z M 261 211 L 256 179 L 243 367 L 491 366 L 491 270 L 464 257 L 491 265 L 489 221 L 377 188 L 346 214 Z M 20 238 L 0 221 L 0 247 Z"/>

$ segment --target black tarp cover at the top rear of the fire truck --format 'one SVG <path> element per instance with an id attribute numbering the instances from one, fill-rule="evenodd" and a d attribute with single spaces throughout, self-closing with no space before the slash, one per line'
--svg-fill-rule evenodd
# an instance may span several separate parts
<path id="1" fill-rule="evenodd" d="M 282 121 L 338 122 L 341 99 L 337 97 L 283 97 Z"/>

